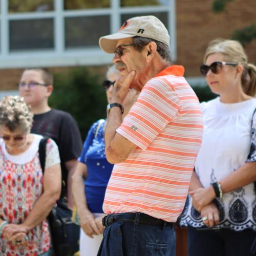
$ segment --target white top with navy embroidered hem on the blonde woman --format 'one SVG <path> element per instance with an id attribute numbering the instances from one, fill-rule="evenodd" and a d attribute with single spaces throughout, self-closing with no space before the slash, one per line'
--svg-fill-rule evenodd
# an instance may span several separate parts
<path id="1" fill-rule="evenodd" d="M 204 187 L 222 180 L 246 162 L 256 162 L 256 100 L 225 104 L 220 98 L 202 102 L 204 134 L 195 170 Z M 254 113 L 254 114 L 253 114 Z M 256 231 L 256 183 L 231 191 L 214 202 L 220 226 Z M 204 226 L 188 196 L 181 225 Z"/>

